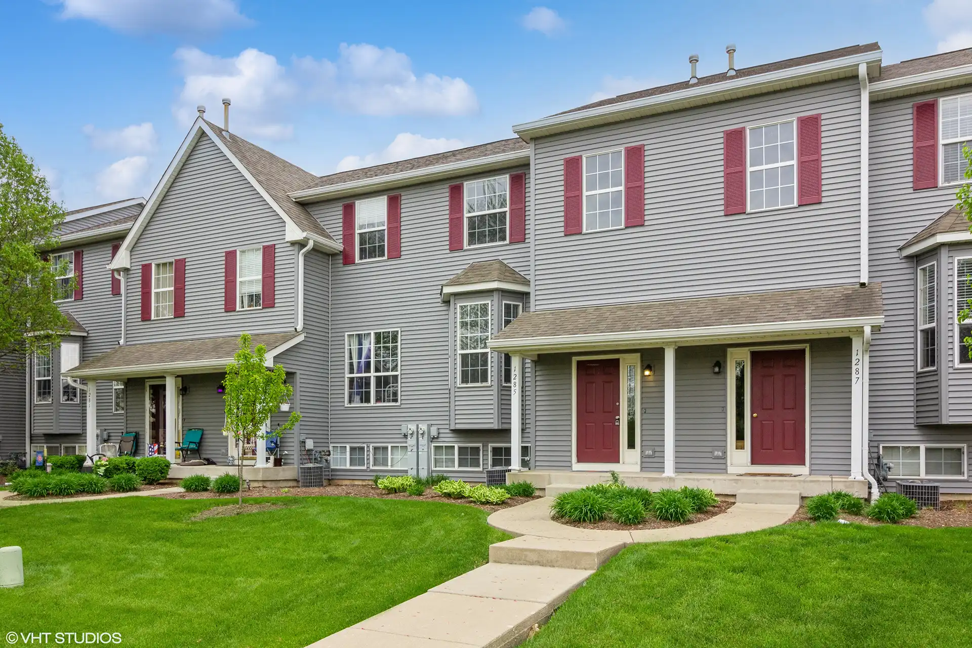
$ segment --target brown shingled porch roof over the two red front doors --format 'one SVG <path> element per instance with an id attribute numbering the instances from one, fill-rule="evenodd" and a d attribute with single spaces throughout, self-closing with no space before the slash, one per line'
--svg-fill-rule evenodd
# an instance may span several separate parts
<path id="1" fill-rule="evenodd" d="M 836 336 L 884 324 L 881 284 L 752 292 L 524 313 L 490 340 L 494 351 L 556 353 Z"/>

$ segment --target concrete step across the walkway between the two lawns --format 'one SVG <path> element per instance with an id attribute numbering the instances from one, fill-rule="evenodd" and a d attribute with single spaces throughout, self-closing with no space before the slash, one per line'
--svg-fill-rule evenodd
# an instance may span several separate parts
<path id="1" fill-rule="evenodd" d="M 593 571 L 607 563 L 627 544 L 610 540 L 564 540 L 521 535 L 490 545 L 489 561 Z"/>

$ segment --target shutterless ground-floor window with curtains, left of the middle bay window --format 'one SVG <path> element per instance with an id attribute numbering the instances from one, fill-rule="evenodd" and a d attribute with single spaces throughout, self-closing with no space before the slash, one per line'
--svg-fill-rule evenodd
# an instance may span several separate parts
<path id="1" fill-rule="evenodd" d="M 399 331 L 348 333 L 346 378 L 348 405 L 399 402 Z"/>

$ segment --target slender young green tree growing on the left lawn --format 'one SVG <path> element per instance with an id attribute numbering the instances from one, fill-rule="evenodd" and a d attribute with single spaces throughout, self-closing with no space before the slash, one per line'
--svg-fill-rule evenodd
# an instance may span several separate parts
<path id="1" fill-rule="evenodd" d="M 266 347 L 258 344 L 250 351 L 252 338 L 249 333 L 240 335 L 240 348 L 233 361 L 226 366 L 223 400 L 226 402 L 226 427 L 223 433 L 231 436 L 238 456 L 243 457 L 245 439 L 261 443 L 268 438 L 279 438 L 294 429 L 300 420 L 299 412 L 291 412 L 287 422 L 273 430 L 267 429 L 270 415 L 280 411 L 281 403 L 294 395 L 294 388 L 286 383 L 287 374 L 282 364 L 266 366 Z M 243 461 L 236 461 L 240 480 L 239 503 L 243 504 Z"/>

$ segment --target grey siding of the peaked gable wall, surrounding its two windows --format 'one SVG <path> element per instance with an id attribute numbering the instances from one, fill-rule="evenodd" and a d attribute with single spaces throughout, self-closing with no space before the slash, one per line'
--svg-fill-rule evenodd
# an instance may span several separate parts
<path id="1" fill-rule="evenodd" d="M 294 329 L 294 248 L 285 225 L 205 135 L 177 174 L 131 252 L 127 344 Z M 224 312 L 224 254 L 275 243 L 276 306 Z M 142 263 L 186 258 L 186 317 L 142 322 Z"/>

